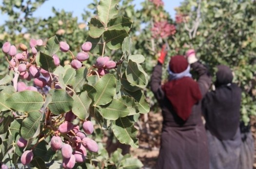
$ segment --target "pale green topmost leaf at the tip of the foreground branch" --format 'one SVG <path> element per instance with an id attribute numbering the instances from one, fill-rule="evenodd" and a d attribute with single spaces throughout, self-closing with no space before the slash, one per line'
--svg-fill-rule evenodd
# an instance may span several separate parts
<path id="1" fill-rule="evenodd" d="M 119 0 L 100 0 L 98 2 L 98 18 L 106 26 L 108 21 L 118 14 Z"/>

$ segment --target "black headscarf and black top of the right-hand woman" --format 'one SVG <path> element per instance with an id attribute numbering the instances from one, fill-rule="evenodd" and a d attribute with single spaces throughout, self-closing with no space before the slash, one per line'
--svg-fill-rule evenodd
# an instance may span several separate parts
<path id="1" fill-rule="evenodd" d="M 241 89 L 234 83 L 229 67 L 217 66 L 216 90 L 203 99 L 206 129 L 220 140 L 231 139 L 239 127 Z"/>

